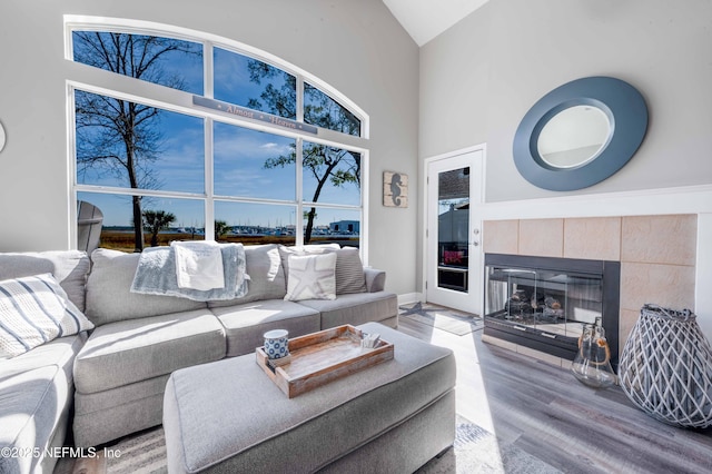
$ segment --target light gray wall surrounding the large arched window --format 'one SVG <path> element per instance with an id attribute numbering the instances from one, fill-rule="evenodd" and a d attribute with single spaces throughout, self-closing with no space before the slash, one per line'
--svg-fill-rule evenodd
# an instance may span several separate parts
<path id="1" fill-rule="evenodd" d="M 417 176 L 418 49 L 380 0 L 10 0 L 0 3 L 0 251 L 70 248 L 63 14 L 131 18 L 226 37 L 325 81 L 370 117 L 368 264 L 415 289 L 416 206 L 384 208 L 382 176 Z M 417 194 L 417 179 L 411 192 Z M 397 245 L 393 236 L 403 236 Z"/>

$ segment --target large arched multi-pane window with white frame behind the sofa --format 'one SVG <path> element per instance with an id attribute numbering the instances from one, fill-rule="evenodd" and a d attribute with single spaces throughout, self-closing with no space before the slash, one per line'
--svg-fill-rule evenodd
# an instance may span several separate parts
<path id="1" fill-rule="evenodd" d="M 66 31 L 66 59 L 106 71 L 69 81 L 72 189 L 101 209 L 101 247 L 362 245 L 368 118 L 347 98 L 209 33 L 72 16 Z"/>

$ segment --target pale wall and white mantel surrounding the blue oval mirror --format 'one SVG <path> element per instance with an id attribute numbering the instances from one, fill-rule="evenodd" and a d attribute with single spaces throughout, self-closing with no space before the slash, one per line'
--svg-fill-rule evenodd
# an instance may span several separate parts
<path id="1" fill-rule="evenodd" d="M 710 45 L 709 0 L 490 0 L 421 49 L 421 160 L 486 144 L 487 219 L 699 214 L 695 310 L 712 337 Z M 550 90 L 587 76 L 635 86 L 647 135 L 595 186 L 536 188 L 512 157 L 520 120 Z"/>

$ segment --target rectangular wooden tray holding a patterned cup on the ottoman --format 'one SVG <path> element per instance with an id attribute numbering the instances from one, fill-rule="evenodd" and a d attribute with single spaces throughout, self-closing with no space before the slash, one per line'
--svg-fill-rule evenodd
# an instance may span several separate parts
<path id="1" fill-rule="evenodd" d="M 288 364 L 273 364 L 261 347 L 257 364 L 289 398 L 332 381 L 393 358 L 393 344 L 380 339 L 376 347 L 360 346 L 362 330 L 352 325 L 334 327 L 289 339 Z"/>

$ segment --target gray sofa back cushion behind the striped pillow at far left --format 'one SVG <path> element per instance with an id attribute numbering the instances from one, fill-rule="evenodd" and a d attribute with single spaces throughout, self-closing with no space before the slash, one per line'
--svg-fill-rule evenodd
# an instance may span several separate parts
<path id="1" fill-rule="evenodd" d="M 0 254 L 0 279 L 50 273 L 69 299 L 83 312 L 89 266 L 89 257 L 79 250 Z"/>

